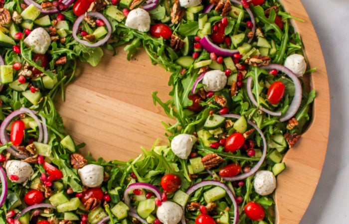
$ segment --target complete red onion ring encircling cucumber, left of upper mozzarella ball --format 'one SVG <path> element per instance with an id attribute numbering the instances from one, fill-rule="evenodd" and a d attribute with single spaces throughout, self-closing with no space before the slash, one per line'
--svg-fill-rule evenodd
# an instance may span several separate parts
<path id="1" fill-rule="evenodd" d="M 78 29 L 79 29 L 79 25 L 80 25 L 80 23 L 82 22 L 82 20 L 84 20 L 84 17 L 85 17 L 85 16 L 92 16 L 92 17 L 96 17 L 96 18 L 99 18 L 99 19 L 102 19 L 102 20 L 103 20 L 103 22 L 104 22 L 105 25 L 107 26 L 107 30 L 108 30 L 107 35 L 105 35 L 105 37 L 104 37 L 103 39 L 97 41 L 96 43 L 90 43 L 90 42 L 88 42 L 87 40 L 81 40 L 81 39 L 79 39 L 79 38 L 77 37 L 77 32 L 78 32 Z M 80 15 L 80 16 L 75 20 L 72 31 L 73 31 L 73 37 L 74 37 L 74 39 L 75 39 L 77 42 L 79 42 L 79 43 L 81 43 L 81 44 L 83 44 L 83 45 L 85 45 L 85 46 L 88 46 L 88 47 L 98 47 L 98 46 L 101 46 L 101 45 L 103 45 L 105 42 L 108 41 L 110 35 L 112 34 L 112 27 L 111 27 L 111 25 L 110 25 L 108 19 L 107 19 L 103 14 L 101 14 L 101 13 L 99 13 L 99 12 L 96 12 L 96 11 L 89 11 L 89 12 L 86 12 L 85 14 L 83 14 L 83 15 Z"/>

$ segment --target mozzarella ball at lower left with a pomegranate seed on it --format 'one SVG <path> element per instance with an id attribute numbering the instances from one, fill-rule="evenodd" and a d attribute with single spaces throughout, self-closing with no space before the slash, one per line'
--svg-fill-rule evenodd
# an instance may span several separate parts
<path id="1" fill-rule="evenodd" d="M 17 184 L 28 181 L 34 172 L 29 163 L 20 160 L 8 160 L 5 169 L 8 179 Z M 11 178 L 12 175 L 17 176 L 18 180 Z"/>

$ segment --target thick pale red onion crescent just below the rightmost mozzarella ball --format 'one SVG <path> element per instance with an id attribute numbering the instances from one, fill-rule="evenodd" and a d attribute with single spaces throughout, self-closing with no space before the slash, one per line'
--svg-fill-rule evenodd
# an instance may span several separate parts
<path id="1" fill-rule="evenodd" d="M 293 73 L 290 69 L 286 68 L 283 65 L 269 64 L 266 66 L 261 66 L 260 69 L 264 69 L 264 70 L 276 69 L 276 70 L 279 70 L 279 71 L 285 73 L 288 77 L 290 77 L 292 79 L 293 84 L 295 85 L 295 95 L 293 96 L 292 102 L 291 102 L 288 110 L 285 112 L 284 115 L 282 115 L 280 117 L 280 121 L 284 122 L 286 120 L 291 119 L 298 111 L 299 106 L 301 106 L 301 102 L 302 102 L 301 82 L 299 81 L 299 79 L 297 78 L 295 73 Z"/>

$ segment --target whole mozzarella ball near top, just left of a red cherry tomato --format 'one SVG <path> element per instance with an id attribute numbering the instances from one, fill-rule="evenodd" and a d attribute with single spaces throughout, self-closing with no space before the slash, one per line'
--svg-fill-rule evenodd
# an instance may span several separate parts
<path id="1" fill-rule="evenodd" d="M 133 9 L 129 12 L 125 25 L 140 32 L 148 32 L 150 29 L 150 15 L 143 8 Z"/>

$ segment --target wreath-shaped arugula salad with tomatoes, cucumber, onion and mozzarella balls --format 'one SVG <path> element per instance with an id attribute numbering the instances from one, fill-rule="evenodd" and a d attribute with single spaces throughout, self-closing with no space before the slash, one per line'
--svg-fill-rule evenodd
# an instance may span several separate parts
<path id="1" fill-rule="evenodd" d="M 0 0 L 0 224 L 274 223 L 315 98 L 290 19 L 275 0 Z M 53 99 L 121 45 L 172 74 L 152 95 L 169 144 L 84 157 Z"/>

